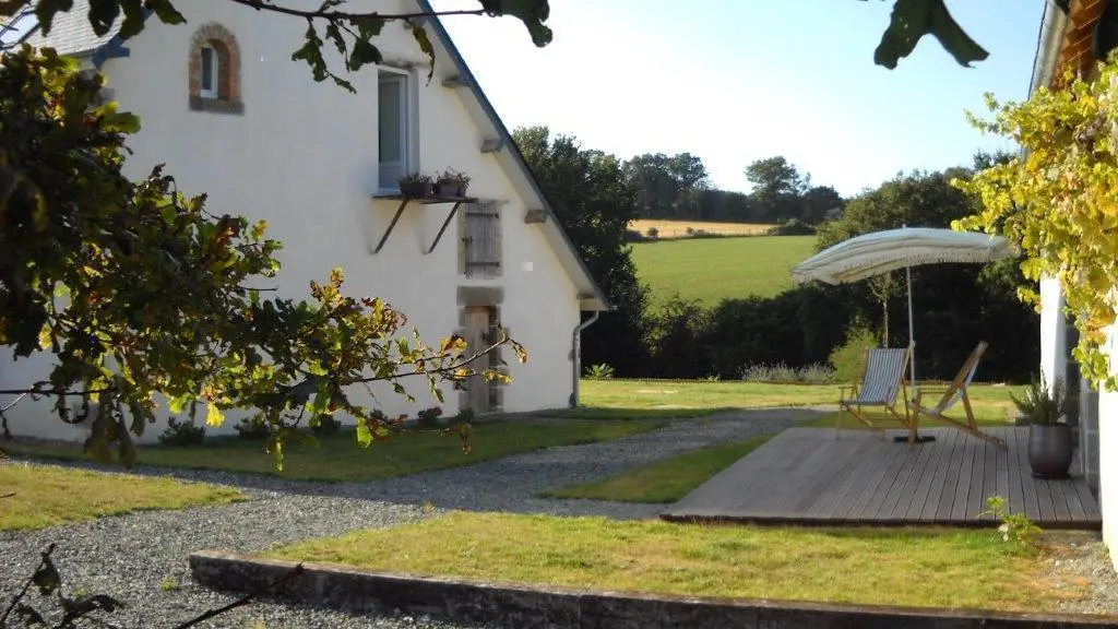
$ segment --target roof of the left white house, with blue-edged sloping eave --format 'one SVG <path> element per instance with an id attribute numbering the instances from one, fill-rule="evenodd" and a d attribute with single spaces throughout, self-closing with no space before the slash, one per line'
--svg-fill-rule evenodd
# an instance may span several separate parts
<path id="1" fill-rule="evenodd" d="M 416 2 L 419 4 L 421 11 L 435 11 L 428 0 L 416 0 Z M 93 55 L 95 63 L 100 65 L 100 60 L 104 58 L 106 51 L 121 49 L 122 47 L 122 40 L 116 37 L 116 32 L 120 30 L 120 21 L 113 25 L 113 28 L 105 35 L 97 36 L 89 26 L 88 11 L 89 0 L 74 0 L 74 6 L 69 11 L 65 13 L 59 12 L 55 16 L 50 35 L 44 36 L 39 29 L 35 29 L 26 40 L 36 47 L 53 47 L 59 54 L 64 55 Z M 446 31 L 446 28 L 438 18 L 429 18 L 428 24 L 435 32 L 433 44 L 436 49 L 436 69 L 439 68 L 440 64 L 454 68 L 454 72 L 451 74 L 459 77 L 458 83 L 463 85 L 463 93 L 468 94 L 468 96 L 463 98 L 463 104 L 470 112 L 474 124 L 483 133 L 492 133 L 499 139 L 500 148 L 494 153 L 494 157 L 501 163 L 509 180 L 517 189 L 517 193 L 525 199 L 529 209 L 536 205 L 544 212 L 544 220 L 538 225 L 543 232 L 548 244 L 551 245 L 552 251 L 555 251 L 556 256 L 559 259 L 559 263 L 578 290 L 581 309 L 610 310 L 609 299 L 590 274 L 586 262 L 578 253 L 578 248 L 571 242 L 570 236 L 567 235 L 562 225 L 559 224 L 551 204 L 536 179 L 536 175 L 529 168 L 523 153 L 521 153 L 520 148 L 513 142 L 512 134 L 509 133 L 509 129 L 496 114 L 496 110 L 493 109 L 489 97 L 482 92 L 477 79 L 470 72 L 465 59 L 451 39 L 449 32 Z"/>

